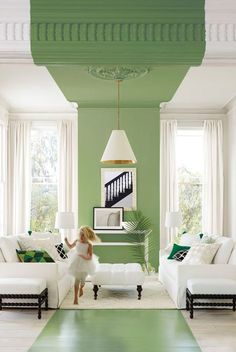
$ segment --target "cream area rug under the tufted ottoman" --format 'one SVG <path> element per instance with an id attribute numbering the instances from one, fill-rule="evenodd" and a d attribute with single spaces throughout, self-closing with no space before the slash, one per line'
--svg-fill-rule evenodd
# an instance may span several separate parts
<path id="1" fill-rule="evenodd" d="M 157 276 L 147 276 L 142 298 L 138 300 L 135 287 L 103 286 L 94 300 L 93 286 L 86 282 L 84 295 L 79 304 L 73 304 L 73 289 L 70 290 L 60 309 L 175 309 L 173 301 L 158 281 Z"/>

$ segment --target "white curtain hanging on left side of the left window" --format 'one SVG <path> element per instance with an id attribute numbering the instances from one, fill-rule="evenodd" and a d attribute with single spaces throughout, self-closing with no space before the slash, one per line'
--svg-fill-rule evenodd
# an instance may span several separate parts
<path id="1" fill-rule="evenodd" d="M 25 232 L 30 225 L 30 122 L 10 121 L 7 133 L 8 235 Z"/>

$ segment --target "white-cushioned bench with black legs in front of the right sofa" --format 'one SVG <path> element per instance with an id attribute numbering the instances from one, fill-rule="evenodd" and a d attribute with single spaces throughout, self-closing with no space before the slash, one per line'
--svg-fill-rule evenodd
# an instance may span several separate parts
<path id="1" fill-rule="evenodd" d="M 202 301 L 207 299 L 207 302 Z M 197 301 L 195 301 L 197 300 Z M 213 300 L 213 301 L 212 301 Z M 217 300 L 217 302 L 216 302 Z M 223 301 L 218 301 L 223 300 Z M 228 302 L 225 302 L 228 300 Z M 229 302 L 230 300 L 230 302 Z M 186 309 L 193 318 L 193 308 L 233 307 L 236 305 L 236 281 L 231 279 L 190 279 L 187 281 Z"/>

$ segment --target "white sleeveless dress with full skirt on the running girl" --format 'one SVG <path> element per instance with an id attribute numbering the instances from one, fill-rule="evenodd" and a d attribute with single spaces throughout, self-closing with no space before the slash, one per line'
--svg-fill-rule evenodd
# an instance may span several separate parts
<path id="1" fill-rule="evenodd" d="M 86 273 L 87 275 L 93 275 L 96 267 L 98 265 L 98 257 L 93 254 L 92 258 L 89 260 L 83 259 L 79 254 L 88 254 L 88 243 L 76 242 L 76 247 L 74 253 L 71 255 L 69 273 L 75 278 L 80 278 L 81 273 Z"/>

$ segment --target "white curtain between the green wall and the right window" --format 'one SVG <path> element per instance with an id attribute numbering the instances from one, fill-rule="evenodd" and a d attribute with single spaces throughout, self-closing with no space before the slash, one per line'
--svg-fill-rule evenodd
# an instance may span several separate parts
<path id="1" fill-rule="evenodd" d="M 161 120 L 160 130 L 160 248 L 171 241 L 172 231 L 165 227 L 167 211 L 178 210 L 178 183 L 176 170 L 177 122 Z"/>

